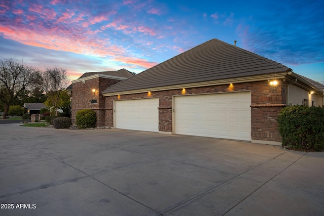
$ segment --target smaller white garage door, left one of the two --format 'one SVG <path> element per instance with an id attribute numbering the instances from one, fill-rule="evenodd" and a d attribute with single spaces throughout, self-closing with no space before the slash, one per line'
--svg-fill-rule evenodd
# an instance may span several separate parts
<path id="1" fill-rule="evenodd" d="M 115 103 L 116 128 L 158 132 L 158 98 Z"/>

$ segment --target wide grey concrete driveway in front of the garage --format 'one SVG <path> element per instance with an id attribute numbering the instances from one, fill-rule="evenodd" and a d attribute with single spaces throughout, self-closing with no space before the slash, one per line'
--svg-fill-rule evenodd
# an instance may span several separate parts
<path id="1" fill-rule="evenodd" d="M 324 152 L 19 124 L 0 139 L 0 215 L 324 214 Z"/>

